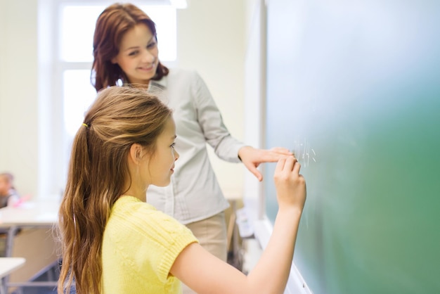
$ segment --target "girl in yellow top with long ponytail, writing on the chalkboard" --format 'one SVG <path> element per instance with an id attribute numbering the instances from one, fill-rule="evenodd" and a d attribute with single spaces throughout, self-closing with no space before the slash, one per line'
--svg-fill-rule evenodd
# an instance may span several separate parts
<path id="1" fill-rule="evenodd" d="M 63 265 L 58 293 L 283 293 L 306 198 L 299 163 L 281 158 L 278 215 L 248 275 L 208 253 L 191 231 L 146 203 L 167 186 L 179 153 L 172 111 L 146 91 L 100 91 L 72 145 L 59 211 Z M 145 193 L 146 192 L 146 193 Z M 179 281 L 180 280 L 180 281 Z"/>

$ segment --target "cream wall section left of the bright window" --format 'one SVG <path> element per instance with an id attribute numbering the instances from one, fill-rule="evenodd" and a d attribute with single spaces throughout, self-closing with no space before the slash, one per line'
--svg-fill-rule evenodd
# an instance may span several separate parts
<path id="1" fill-rule="evenodd" d="M 0 2 L 0 172 L 37 191 L 37 0 Z"/>

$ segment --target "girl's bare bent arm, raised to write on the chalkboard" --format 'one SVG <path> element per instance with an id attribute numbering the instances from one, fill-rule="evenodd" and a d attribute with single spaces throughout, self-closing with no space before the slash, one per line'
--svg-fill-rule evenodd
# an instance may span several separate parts
<path id="1" fill-rule="evenodd" d="M 279 210 L 273 233 L 248 276 L 219 260 L 198 243 L 177 257 L 171 273 L 197 293 L 283 293 L 292 266 L 306 184 L 292 156 L 278 161 L 274 179 Z"/>

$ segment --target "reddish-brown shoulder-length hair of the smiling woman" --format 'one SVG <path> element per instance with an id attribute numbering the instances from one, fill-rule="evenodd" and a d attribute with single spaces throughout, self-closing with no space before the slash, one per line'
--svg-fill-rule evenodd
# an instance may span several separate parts
<path id="1" fill-rule="evenodd" d="M 133 4 L 112 4 L 105 8 L 96 20 L 93 36 L 93 65 L 91 84 L 96 91 L 117 85 L 118 80 L 128 82 L 127 76 L 112 58 L 119 53 L 122 36 L 133 27 L 143 23 L 151 30 L 157 40 L 155 23 L 148 15 Z M 160 80 L 168 75 L 168 68 L 159 62 L 156 75 L 152 78 Z"/>

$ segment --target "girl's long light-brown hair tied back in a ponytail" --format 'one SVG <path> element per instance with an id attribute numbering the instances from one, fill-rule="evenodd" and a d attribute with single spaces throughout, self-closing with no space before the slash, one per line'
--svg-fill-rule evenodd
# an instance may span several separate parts
<path id="1" fill-rule="evenodd" d="M 157 136 L 172 115 L 157 96 L 131 87 L 98 93 L 73 145 L 59 210 L 63 263 L 58 293 L 101 291 L 101 243 L 112 205 L 130 179 L 129 148 L 139 143 L 153 155 Z"/>

